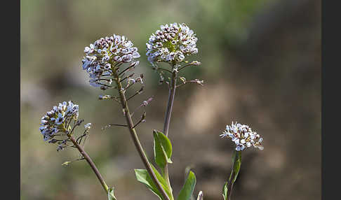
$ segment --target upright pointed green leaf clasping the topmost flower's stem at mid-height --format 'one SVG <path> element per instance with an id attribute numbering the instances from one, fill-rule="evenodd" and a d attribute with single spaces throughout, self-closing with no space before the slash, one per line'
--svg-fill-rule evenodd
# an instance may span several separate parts
<path id="1" fill-rule="evenodd" d="M 156 164 L 163 169 L 167 162 L 173 163 L 170 157 L 172 156 L 172 144 L 170 140 L 160 131 L 153 131 L 154 135 L 154 159 Z"/>

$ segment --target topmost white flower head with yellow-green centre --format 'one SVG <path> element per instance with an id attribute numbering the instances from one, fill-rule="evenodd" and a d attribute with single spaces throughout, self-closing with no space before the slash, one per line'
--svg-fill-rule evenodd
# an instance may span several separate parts
<path id="1" fill-rule="evenodd" d="M 161 25 L 161 30 L 149 37 L 149 62 L 182 62 L 185 56 L 196 54 L 196 35 L 185 23 Z"/>

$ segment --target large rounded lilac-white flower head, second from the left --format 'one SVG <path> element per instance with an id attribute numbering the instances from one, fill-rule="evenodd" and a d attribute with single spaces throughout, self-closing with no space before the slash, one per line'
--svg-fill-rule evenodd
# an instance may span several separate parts
<path id="1" fill-rule="evenodd" d="M 138 48 L 133 46 L 125 36 L 113 35 L 100 38 L 84 49 L 83 69 L 88 72 L 90 85 L 101 87 L 102 90 L 112 84 L 113 70 L 119 64 L 131 63 L 137 66 L 135 59 L 140 57 Z"/>

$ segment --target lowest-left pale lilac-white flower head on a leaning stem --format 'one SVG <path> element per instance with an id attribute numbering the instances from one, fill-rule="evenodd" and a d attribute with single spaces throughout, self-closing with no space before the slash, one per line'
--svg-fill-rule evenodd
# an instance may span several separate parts
<path id="1" fill-rule="evenodd" d="M 44 141 L 48 143 L 56 143 L 59 140 L 53 139 L 58 132 L 64 132 L 68 129 L 68 125 L 72 120 L 77 120 L 79 116 L 79 106 L 69 101 L 59 103 L 58 106 L 53 106 L 51 111 L 48 111 L 46 115 L 41 117 L 41 127 L 39 130 L 44 136 Z M 62 144 L 66 141 L 62 141 L 58 148 L 62 148 Z"/>

